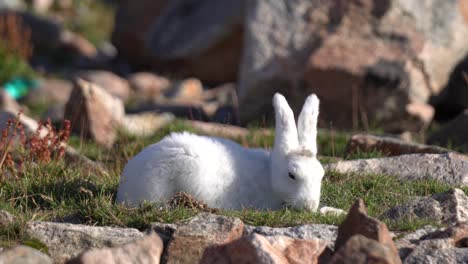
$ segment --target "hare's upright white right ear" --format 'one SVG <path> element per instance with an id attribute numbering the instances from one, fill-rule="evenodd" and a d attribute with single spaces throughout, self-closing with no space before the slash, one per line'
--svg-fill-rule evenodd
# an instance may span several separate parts
<path id="1" fill-rule="evenodd" d="M 317 155 L 317 119 L 319 114 L 319 99 L 315 94 L 307 97 L 301 114 L 297 120 L 299 144 L 301 147 Z"/>

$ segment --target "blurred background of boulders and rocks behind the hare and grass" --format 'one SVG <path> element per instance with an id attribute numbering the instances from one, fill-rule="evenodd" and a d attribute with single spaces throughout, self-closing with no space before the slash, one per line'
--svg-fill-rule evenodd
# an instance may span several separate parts
<path id="1" fill-rule="evenodd" d="M 281 92 L 296 113 L 316 93 L 322 128 L 467 151 L 467 55 L 467 0 L 0 0 L 2 110 L 105 146 L 174 117 L 268 126 Z"/>

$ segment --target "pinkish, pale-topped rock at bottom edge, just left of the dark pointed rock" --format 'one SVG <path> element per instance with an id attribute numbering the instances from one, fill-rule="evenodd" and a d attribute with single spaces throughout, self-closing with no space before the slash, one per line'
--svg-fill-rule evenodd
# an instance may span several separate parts
<path id="1" fill-rule="evenodd" d="M 252 234 L 205 250 L 200 263 L 318 263 L 326 243 L 286 236 Z"/>

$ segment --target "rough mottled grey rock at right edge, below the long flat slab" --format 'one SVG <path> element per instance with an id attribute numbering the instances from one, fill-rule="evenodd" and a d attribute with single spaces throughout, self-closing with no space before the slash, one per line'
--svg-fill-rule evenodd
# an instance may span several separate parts
<path id="1" fill-rule="evenodd" d="M 414 198 L 408 203 L 391 208 L 382 217 L 391 220 L 430 219 L 445 224 L 468 221 L 468 197 L 460 189 Z"/>

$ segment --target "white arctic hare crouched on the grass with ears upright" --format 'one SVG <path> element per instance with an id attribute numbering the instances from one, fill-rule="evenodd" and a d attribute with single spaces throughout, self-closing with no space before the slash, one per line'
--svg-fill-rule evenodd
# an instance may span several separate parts
<path id="1" fill-rule="evenodd" d="M 279 93 L 273 97 L 276 136 L 271 153 L 233 141 L 172 133 L 125 166 L 117 201 L 165 202 L 186 192 L 210 207 L 316 211 L 324 170 L 317 160 L 319 99 L 310 95 L 299 115 Z"/>

